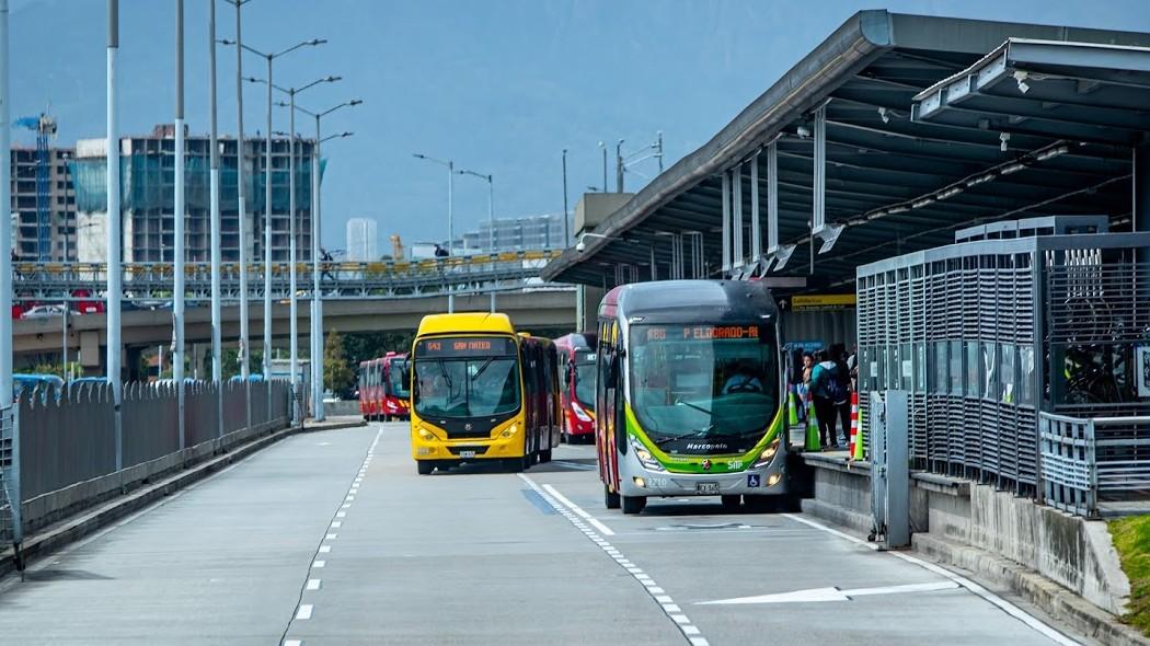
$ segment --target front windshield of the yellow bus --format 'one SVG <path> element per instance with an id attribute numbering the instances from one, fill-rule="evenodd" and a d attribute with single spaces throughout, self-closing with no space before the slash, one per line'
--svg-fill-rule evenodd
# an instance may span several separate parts
<path id="1" fill-rule="evenodd" d="M 519 409 L 514 339 L 458 337 L 415 344 L 412 403 L 424 417 L 483 417 Z"/>

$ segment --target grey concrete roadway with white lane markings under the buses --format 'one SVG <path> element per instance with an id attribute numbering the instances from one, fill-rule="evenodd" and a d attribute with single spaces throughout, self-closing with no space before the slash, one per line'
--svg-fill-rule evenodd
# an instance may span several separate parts
<path id="1" fill-rule="evenodd" d="M 374 424 L 294 436 L 0 582 L 0 644 L 1073 643 L 930 568 L 803 515 L 608 512 L 588 446 L 421 477 L 406 425 Z"/>

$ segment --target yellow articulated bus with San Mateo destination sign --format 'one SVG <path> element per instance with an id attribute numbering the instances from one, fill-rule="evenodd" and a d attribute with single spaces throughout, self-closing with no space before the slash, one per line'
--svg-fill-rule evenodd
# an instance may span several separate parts
<path id="1" fill-rule="evenodd" d="M 555 346 L 506 314 L 432 314 L 412 346 L 412 457 L 421 475 L 463 462 L 551 460 L 561 433 Z"/>

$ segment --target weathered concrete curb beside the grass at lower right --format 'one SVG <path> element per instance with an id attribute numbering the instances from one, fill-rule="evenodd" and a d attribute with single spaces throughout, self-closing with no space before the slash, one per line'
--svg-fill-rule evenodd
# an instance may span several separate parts
<path id="1" fill-rule="evenodd" d="M 1048 615 L 1058 617 L 1075 631 L 1103 644 L 1150 646 L 1150 639 L 1137 630 L 1119 623 L 1114 615 L 1013 561 L 929 533 L 915 533 L 911 537 L 911 543 L 915 552 L 930 560 L 961 568 L 1004 585 Z"/>

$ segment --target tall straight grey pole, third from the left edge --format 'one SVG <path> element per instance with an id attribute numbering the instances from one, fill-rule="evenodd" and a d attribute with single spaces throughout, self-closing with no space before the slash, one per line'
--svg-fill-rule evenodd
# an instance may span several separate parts
<path id="1" fill-rule="evenodd" d="M 175 236 L 176 249 L 172 267 L 171 317 L 175 330 L 171 345 L 171 377 L 176 380 L 176 401 L 179 409 L 179 448 L 186 447 L 184 429 L 184 0 L 176 0 L 176 178 L 175 178 Z"/>

